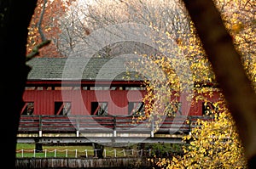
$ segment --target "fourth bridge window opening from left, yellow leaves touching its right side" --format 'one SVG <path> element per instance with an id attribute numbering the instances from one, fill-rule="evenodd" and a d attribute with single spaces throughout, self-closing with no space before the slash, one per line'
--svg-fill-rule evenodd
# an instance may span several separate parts
<path id="1" fill-rule="evenodd" d="M 128 115 L 144 115 L 145 107 L 143 102 L 129 102 Z"/>

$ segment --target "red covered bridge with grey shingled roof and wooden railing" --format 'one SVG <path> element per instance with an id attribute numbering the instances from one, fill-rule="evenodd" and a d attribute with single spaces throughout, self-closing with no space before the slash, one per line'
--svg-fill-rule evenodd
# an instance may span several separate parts
<path id="1" fill-rule="evenodd" d="M 183 112 L 182 103 L 176 104 L 177 109 L 172 112 L 176 116 L 163 117 L 160 129 L 156 130 L 156 121 L 134 123 L 135 113 L 145 111 L 145 88 L 143 77 L 132 71 L 129 80 L 124 79 L 128 61 L 125 58 L 29 61 L 32 71 L 23 95 L 18 141 L 34 142 L 37 138 L 40 142 L 89 142 L 88 138 L 93 138 L 98 142 L 127 142 L 127 139 L 132 142 L 142 136 L 148 142 L 161 139 L 180 142 L 181 138 L 173 138 L 174 133 L 189 133 L 197 118 L 205 118 L 206 111 L 216 109 L 212 103 L 219 99 L 217 90 L 212 92 L 211 102 L 191 105 L 189 114 Z"/>

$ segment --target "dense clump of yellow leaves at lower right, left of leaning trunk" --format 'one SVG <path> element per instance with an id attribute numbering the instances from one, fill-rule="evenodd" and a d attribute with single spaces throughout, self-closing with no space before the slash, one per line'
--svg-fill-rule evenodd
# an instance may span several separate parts
<path id="1" fill-rule="evenodd" d="M 244 149 L 230 112 L 215 114 L 214 121 L 198 120 L 183 138 L 183 156 L 156 159 L 161 168 L 247 168 Z"/>

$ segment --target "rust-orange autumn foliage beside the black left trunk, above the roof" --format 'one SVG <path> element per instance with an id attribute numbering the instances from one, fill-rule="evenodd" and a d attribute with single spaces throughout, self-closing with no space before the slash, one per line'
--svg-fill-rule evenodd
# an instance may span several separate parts
<path id="1" fill-rule="evenodd" d="M 49 39 L 51 43 L 40 50 L 38 57 L 62 57 L 57 48 L 58 36 L 61 33 L 58 18 L 65 14 L 71 2 L 73 0 L 38 0 L 28 27 L 27 54 L 31 53 L 36 45 Z"/>

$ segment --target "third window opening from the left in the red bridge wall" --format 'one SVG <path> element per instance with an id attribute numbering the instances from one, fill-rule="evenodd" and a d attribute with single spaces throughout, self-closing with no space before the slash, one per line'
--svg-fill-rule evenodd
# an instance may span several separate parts
<path id="1" fill-rule="evenodd" d="M 108 115 L 108 102 L 91 102 L 91 115 Z"/>

